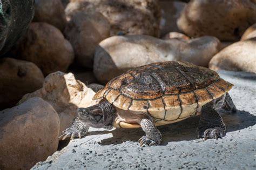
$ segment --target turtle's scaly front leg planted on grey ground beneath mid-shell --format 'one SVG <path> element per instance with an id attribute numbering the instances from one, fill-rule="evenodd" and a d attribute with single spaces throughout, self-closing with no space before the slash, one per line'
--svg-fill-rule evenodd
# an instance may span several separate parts
<path id="1" fill-rule="evenodd" d="M 145 136 L 139 139 L 140 146 L 143 144 L 148 146 L 160 144 L 162 135 L 150 119 L 142 119 L 140 126 L 142 126 L 142 130 L 146 133 Z"/>

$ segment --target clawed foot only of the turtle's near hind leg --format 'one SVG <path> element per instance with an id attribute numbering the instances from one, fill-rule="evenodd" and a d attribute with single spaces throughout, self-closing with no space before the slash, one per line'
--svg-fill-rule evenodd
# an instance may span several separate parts
<path id="1" fill-rule="evenodd" d="M 203 132 L 198 132 L 198 138 L 204 138 L 205 140 L 211 138 L 223 138 L 226 135 L 226 130 L 221 127 L 207 128 Z"/>

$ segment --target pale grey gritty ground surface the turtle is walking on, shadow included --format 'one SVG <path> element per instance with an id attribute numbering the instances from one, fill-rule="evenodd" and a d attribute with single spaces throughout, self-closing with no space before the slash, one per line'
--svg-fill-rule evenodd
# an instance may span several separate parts
<path id="1" fill-rule="evenodd" d="M 238 112 L 224 113 L 223 139 L 197 139 L 199 117 L 159 127 L 160 146 L 139 147 L 141 129 L 90 129 L 33 169 L 256 169 L 256 74 L 219 72 L 234 84 Z"/>

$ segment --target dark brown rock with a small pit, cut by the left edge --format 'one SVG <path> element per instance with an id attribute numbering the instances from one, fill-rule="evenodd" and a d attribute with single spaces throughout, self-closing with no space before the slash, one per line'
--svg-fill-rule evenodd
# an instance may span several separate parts
<path id="1" fill-rule="evenodd" d="M 35 64 L 0 59 L 0 110 L 14 106 L 24 94 L 40 89 L 43 81 L 43 73 Z"/>

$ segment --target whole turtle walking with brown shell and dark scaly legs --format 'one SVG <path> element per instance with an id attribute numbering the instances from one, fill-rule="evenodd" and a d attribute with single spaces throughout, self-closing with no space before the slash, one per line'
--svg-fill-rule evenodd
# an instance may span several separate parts
<path id="1" fill-rule="evenodd" d="M 145 135 L 140 146 L 159 145 L 157 126 L 199 114 L 198 138 L 223 138 L 226 126 L 219 113 L 236 111 L 228 94 L 232 86 L 217 72 L 184 61 L 140 66 L 110 80 L 93 97 L 98 104 L 78 108 L 60 138 L 81 138 L 89 127 L 142 127 Z"/>

